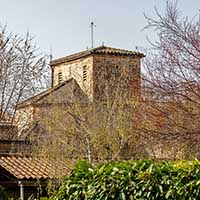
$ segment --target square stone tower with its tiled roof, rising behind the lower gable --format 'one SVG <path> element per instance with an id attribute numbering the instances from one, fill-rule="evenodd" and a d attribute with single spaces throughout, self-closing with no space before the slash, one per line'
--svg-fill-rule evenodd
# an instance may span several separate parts
<path id="1" fill-rule="evenodd" d="M 143 56 L 133 51 L 99 47 L 57 59 L 51 62 L 52 86 L 74 78 L 91 100 L 112 96 L 112 91 L 126 91 L 130 97 L 140 97 Z"/>

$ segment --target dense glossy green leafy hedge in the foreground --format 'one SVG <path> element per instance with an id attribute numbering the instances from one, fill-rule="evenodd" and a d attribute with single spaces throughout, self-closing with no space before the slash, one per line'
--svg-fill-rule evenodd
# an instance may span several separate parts
<path id="1" fill-rule="evenodd" d="M 200 199 L 200 162 L 124 161 L 96 167 L 80 160 L 53 200 Z"/>

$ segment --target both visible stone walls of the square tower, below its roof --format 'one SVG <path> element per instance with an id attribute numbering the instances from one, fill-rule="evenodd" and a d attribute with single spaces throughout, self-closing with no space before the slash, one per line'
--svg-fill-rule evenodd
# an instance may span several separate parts
<path id="1" fill-rule="evenodd" d="M 140 58 L 137 56 L 96 54 L 56 65 L 53 68 L 53 86 L 59 83 L 61 72 L 63 81 L 74 78 L 90 99 L 97 98 L 99 94 L 109 96 L 107 89 L 118 93 L 126 91 L 131 97 L 140 97 Z"/>

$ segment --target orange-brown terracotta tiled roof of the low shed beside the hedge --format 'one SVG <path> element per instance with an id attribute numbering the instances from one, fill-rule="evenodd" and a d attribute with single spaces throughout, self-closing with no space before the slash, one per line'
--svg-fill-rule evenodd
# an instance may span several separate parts
<path id="1" fill-rule="evenodd" d="M 17 179 L 48 179 L 67 175 L 69 169 L 64 162 L 52 162 L 45 159 L 1 156 L 0 166 Z"/>

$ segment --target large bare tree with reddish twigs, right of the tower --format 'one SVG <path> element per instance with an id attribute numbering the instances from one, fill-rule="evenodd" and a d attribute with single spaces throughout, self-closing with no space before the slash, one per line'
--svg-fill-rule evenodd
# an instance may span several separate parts
<path id="1" fill-rule="evenodd" d="M 146 131 L 165 138 L 187 138 L 190 147 L 200 134 L 200 15 L 182 17 L 177 4 L 167 1 L 165 14 L 145 16 L 156 31 L 156 54 L 145 60 L 149 123 Z M 146 94 L 147 94 L 146 93 Z"/>

